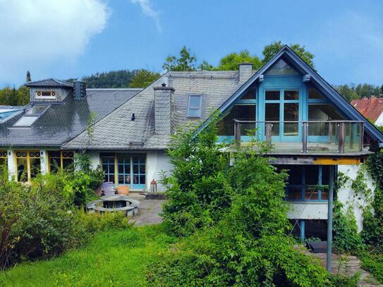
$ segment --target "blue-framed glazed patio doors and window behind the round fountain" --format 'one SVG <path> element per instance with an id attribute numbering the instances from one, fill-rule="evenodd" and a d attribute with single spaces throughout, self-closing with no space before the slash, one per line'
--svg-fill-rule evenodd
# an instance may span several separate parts
<path id="1" fill-rule="evenodd" d="M 131 189 L 146 188 L 146 154 L 102 153 L 100 157 L 105 181 Z"/>

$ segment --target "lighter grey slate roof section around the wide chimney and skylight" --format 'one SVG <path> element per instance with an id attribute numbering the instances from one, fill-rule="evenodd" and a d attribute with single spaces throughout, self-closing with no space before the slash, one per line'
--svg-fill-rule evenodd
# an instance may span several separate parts
<path id="1" fill-rule="evenodd" d="M 196 71 L 165 73 L 152 85 L 97 122 L 92 140 L 86 133 L 63 145 L 64 149 L 166 149 L 169 135 L 154 134 L 153 87 L 168 83 L 174 87 L 174 121 L 177 126 L 196 121 L 187 118 L 188 96 L 202 94 L 201 121 L 238 90 L 238 71 Z M 132 114 L 135 121 L 131 121 Z M 138 144 L 142 142 L 142 144 Z"/>

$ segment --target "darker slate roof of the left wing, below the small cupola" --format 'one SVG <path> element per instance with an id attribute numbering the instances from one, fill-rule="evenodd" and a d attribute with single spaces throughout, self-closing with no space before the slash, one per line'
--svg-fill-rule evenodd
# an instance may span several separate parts
<path id="1" fill-rule="evenodd" d="M 134 97 L 141 89 L 87 89 L 85 99 L 75 100 L 69 94 L 63 102 L 50 104 L 30 128 L 13 128 L 23 116 L 17 116 L 0 124 L 0 146 L 13 147 L 61 147 L 87 127 L 90 113 L 96 113 L 95 121 L 109 114 Z M 35 103 L 42 104 L 42 103 Z"/>

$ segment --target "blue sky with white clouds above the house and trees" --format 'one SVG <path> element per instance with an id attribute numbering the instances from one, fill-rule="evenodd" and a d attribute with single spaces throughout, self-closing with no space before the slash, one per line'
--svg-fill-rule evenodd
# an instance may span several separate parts
<path id="1" fill-rule="evenodd" d="M 0 0 L 0 87 L 147 68 L 186 45 L 217 65 L 233 51 L 301 44 L 329 83 L 383 84 L 383 1 Z"/>

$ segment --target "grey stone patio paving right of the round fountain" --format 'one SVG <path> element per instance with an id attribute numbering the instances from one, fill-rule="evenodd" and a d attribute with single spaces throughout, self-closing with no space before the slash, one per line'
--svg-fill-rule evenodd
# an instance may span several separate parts
<path id="1" fill-rule="evenodd" d="M 128 197 L 140 201 L 138 214 L 130 219 L 130 221 L 135 222 L 135 225 L 150 225 L 162 222 L 159 213 L 162 211 L 162 204 L 166 200 L 145 200 L 145 195 L 140 193 L 129 193 Z"/>

